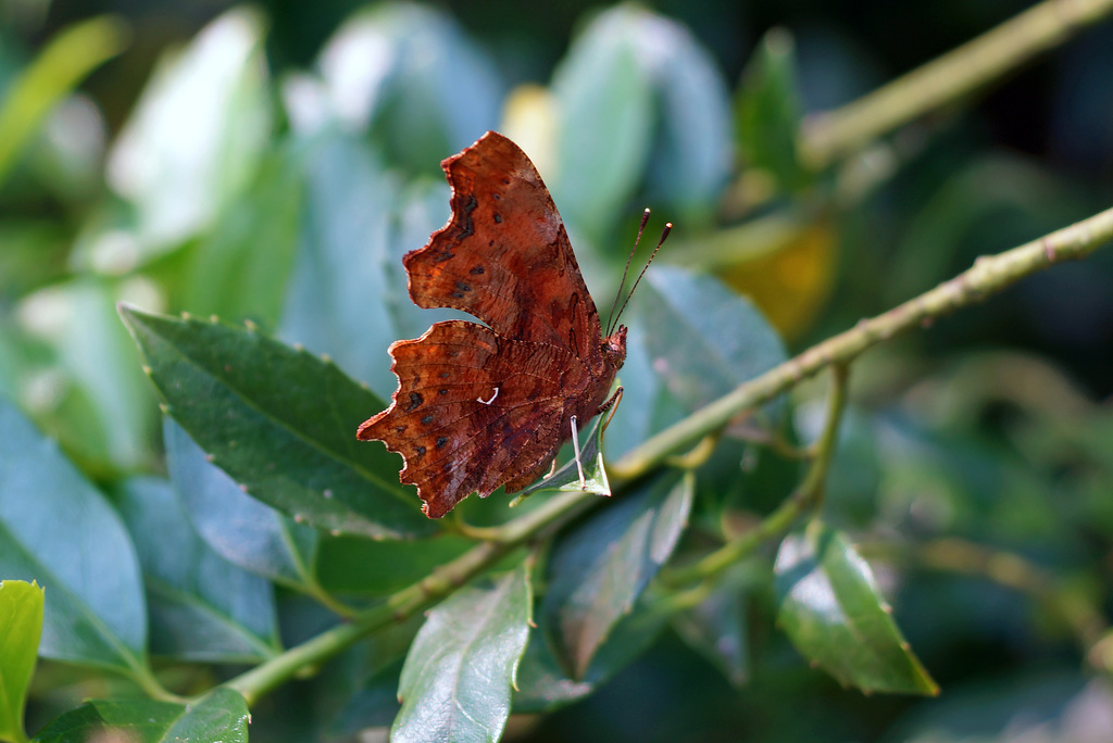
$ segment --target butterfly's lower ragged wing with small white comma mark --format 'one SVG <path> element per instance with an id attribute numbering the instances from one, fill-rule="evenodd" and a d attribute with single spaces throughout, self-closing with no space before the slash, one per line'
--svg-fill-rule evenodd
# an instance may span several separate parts
<path id="1" fill-rule="evenodd" d="M 582 375 L 583 365 L 556 346 L 449 320 L 393 344 L 391 355 L 398 377 L 392 405 L 357 435 L 403 455 L 401 479 L 417 486 L 430 516 L 473 492 L 486 496 L 522 477 L 528 485 L 567 438 L 559 392 L 562 377 Z"/>

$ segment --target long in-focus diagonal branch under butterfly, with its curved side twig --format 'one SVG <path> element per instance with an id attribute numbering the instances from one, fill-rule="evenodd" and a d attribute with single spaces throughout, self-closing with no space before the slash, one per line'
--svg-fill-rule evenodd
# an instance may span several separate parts
<path id="1" fill-rule="evenodd" d="M 841 410 L 845 399 L 844 373 L 850 360 L 897 333 L 979 301 L 1052 264 L 1083 258 L 1111 238 L 1113 209 L 1013 250 L 979 258 L 973 268 L 954 279 L 884 315 L 860 321 L 855 328 L 814 346 L 662 430 L 622 457 L 617 463 L 615 472 L 621 470 L 628 478 L 644 474 L 663 463 L 666 457 L 691 447 L 705 436 L 713 435 L 739 413 L 776 397 L 825 366 L 834 366 L 836 374 L 828 404 L 828 427 L 818 444 L 816 462 L 798 488 L 799 495 L 794 494 L 786 501 L 778 512 L 764 522 L 762 527 L 743 535 L 745 539 L 757 541 L 759 544 L 770 534 L 787 528 L 818 497 L 827 459 L 835 445 L 837 412 Z M 447 596 L 512 551 L 559 528 L 594 502 L 601 502 L 601 498 L 592 493 L 570 492 L 555 495 L 536 511 L 499 527 L 498 533 L 492 535 L 496 538 L 476 545 L 417 583 L 391 595 L 382 604 L 356 614 L 351 622 L 262 663 L 226 685 L 243 694 L 249 705 L 254 704 L 267 692 L 293 678 L 302 668 L 319 665 L 361 638 L 402 622 Z M 745 544 L 730 547 L 736 554 L 746 548 Z M 728 557 L 730 554 L 720 555 L 716 559 L 725 561 Z M 673 579 L 678 577 L 678 573 L 672 574 Z M 679 577 L 683 577 L 682 574 Z"/>

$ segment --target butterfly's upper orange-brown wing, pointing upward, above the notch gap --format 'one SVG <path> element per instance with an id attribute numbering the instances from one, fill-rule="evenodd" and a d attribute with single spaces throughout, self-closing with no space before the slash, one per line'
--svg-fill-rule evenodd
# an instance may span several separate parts
<path id="1" fill-rule="evenodd" d="M 598 353 L 599 314 L 533 164 L 489 132 L 442 164 L 452 218 L 403 259 L 420 307 L 454 307 L 501 336 Z"/>

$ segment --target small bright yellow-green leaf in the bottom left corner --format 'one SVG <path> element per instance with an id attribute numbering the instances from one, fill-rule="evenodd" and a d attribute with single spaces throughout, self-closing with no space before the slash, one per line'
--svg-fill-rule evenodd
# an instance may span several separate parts
<path id="1" fill-rule="evenodd" d="M 23 705 L 42 633 L 42 588 L 0 581 L 0 739 L 24 740 Z"/>

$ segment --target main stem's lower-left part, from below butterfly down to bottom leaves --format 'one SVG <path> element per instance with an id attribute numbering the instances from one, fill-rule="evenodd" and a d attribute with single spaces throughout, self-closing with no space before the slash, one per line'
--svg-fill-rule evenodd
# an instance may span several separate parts
<path id="1" fill-rule="evenodd" d="M 260 663 L 225 685 L 243 694 L 248 706 L 255 704 L 267 692 L 293 678 L 302 668 L 319 665 L 368 634 L 403 622 L 434 604 L 532 537 L 563 524 L 583 507 L 588 498 L 593 497 L 595 496 L 591 493 L 574 492 L 561 493 L 548 499 L 536 511 L 506 524 L 499 541 L 476 545 L 435 568 L 417 583 L 392 594 L 382 604 L 356 614 L 349 623 L 323 632 Z"/>

